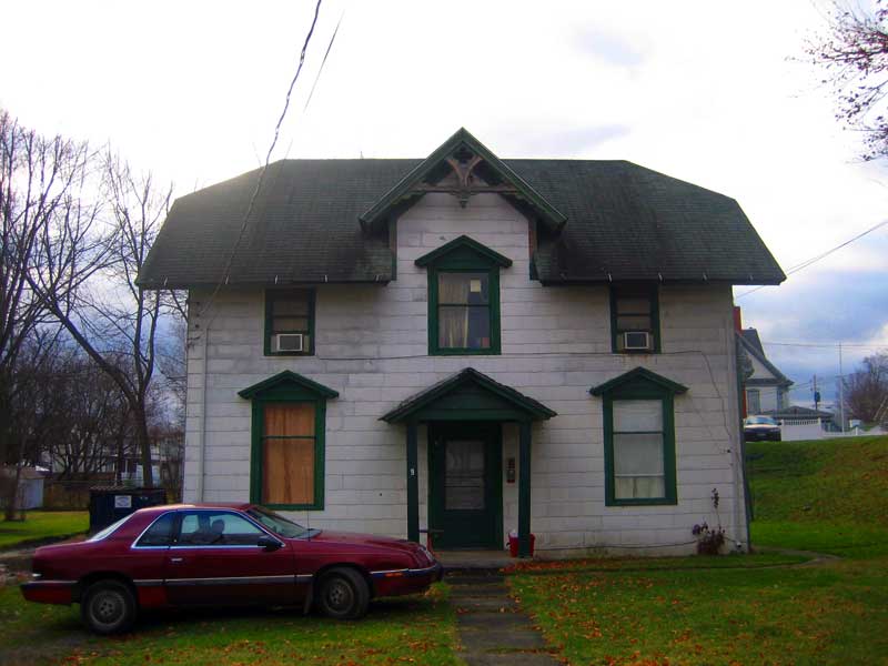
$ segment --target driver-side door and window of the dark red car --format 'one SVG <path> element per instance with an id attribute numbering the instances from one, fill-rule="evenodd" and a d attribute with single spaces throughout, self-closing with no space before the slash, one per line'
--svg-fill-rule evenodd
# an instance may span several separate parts
<path id="1" fill-rule="evenodd" d="M 181 605 L 293 604 L 297 601 L 293 552 L 285 539 L 266 549 L 270 535 L 240 512 L 181 511 L 164 567 L 171 603 Z"/>

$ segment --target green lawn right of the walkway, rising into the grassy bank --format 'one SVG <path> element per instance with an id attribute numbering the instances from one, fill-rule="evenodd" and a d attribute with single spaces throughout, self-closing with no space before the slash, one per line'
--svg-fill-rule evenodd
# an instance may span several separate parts
<path id="1" fill-rule="evenodd" d="M 749 453 L 754 544 L 842 559 L 688 569 L 682 558 L 677 571 L 633 571 L 622 561 L 613 573 L 518 573 L 514 594 L 566 659 L 888 664 L 888 437 L 761 443 Z"/>

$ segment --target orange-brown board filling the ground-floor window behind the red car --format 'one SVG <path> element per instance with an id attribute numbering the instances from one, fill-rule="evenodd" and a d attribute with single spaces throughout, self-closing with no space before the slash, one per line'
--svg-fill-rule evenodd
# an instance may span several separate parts
<path id="1" fill-rule="evenodd" d="M 313 504 L 315 403 L 271 403 L 263 412 L 262 503 Z"/>

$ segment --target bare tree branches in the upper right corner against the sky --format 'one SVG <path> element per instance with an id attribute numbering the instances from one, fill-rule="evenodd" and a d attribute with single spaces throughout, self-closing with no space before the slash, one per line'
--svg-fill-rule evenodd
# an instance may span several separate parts
<path id="1" fill-rule="evenodd" d="M 836 117 L 864 133 L 865 160 L 888 155 L 888 7 L 871 12 L 836 2 L 826 34 L 808 44 L 808 56 L 836 90 Z"/>

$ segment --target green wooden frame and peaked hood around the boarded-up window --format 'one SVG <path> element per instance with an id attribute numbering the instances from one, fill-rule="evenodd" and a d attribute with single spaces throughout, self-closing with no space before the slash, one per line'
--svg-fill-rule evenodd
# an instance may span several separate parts
<path id="1" fill-rule="evenodd" d="M 284 371 L 238 393 L 252 401 L 250 446 L 250 502 L 283 511 L 321 511 L 324 508 L 324 463 L 326 401 L 339 393 L 296 373 Z M 269 404 L 312 403 L 314 405 L 314 500 L 307 504 L 263 504 L 263 440 L 265 406 Z M 286 438 L 300 438 L 297 436 Z M 303 438 L 307 438 L 304 437 Z"/>

